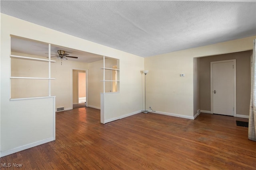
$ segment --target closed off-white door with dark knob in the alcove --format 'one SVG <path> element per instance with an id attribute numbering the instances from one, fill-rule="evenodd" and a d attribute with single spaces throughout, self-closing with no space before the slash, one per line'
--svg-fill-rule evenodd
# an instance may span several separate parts
<path id="1" fill-rule="evenodd" d="M 211 62 L 211 112 L 236 116 L 236 60 Z"/>

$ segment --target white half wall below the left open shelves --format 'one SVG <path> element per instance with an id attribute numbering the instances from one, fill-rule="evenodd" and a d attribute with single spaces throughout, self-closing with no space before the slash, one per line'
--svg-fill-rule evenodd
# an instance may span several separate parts
<path id="1" fill-rule="evenodd" d="M 11 100 L 1 113 L 1 157 L 55 140 L 55 96 Z"/>

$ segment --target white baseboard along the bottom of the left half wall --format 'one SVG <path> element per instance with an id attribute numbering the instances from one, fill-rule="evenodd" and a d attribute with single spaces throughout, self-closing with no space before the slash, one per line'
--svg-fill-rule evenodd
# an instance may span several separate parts
<path id="1" fill-rule="evenodd" d="M 2 151 L 1 152 L 1 157 L 9 155 L 9 154 L 16 153 L 16 152 L 20 152 L 22 150 L 29 149 L 29 148 L 32 148 L 32 147 L 36 147 L 38 145 L 42 145 L 42 144 L 48 143 L 50 141 L 54 141 L 54 137 L 50 137 L 48 139 L 43 139 L 41 141 L 30 143 L 30 144 L 27 144 L 27 145 L 24 145 L 24 146 L 21 146 L 21 147 L 17 147 L 17 148 L 14 148 L 14 149 Z"/>

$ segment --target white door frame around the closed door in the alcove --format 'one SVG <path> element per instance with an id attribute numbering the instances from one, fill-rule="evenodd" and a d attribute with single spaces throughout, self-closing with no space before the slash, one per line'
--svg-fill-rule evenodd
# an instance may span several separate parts
<path id="1" fill-rule="evenodd" d="M 223 60 L 223 61 L 212 61 L 210 62 L 210 89 L 211 89 L 211 114 L 213 114 L 213 87 L 212 87 L 212 84 L 213 84 L 213 77 L 212 77 L 212 72 L 213 72 L 213 64 L 215 63 L 226 63 L 226 62 L 233 62 L 233 75 L 234 75 L 234 82 L 233 82 L 233 106 L 234 106 L 234 111 L 233 111 L 233 116 L 236 117 L 236 59 L 232 59 L 232 60 Z"/>

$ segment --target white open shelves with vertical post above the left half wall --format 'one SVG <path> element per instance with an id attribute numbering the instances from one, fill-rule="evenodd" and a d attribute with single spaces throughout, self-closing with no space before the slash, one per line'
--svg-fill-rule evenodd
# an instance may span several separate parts
<path id="1" fill-rule="evenodd" d="M 56 61 L 51 60 L 51 45 L 48 45 L 48 59 L 39 59 L 39 58 L 33 58 L 33 57 L 24 57 L 24 56 L 18 56 L 18 55 L 10 55 L 11 59 L 22 59 L 22 60 L 30 60 L 30 61 L 38 61 L 38 62 L 48 62 L 48 77 L 42 78 L 42 77 L 19 77 L 19 76 L 10 76 L 10 79 L 32 79 L 32 80 L 49 80 L 48 82 L 48 96 L 51 96 L 51 80 L 55 80 L 55 78 L 51 78 L 51 63 L 54 63 Z M 42 96 L 46 97 L 46 96 Z M 16 98 L 15 100 L 24 100 L 27 98 Z M 10 100 L 14 100 L 11 98 L 10 93 Z"/>

